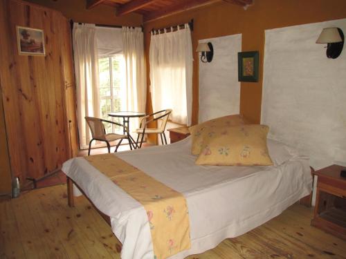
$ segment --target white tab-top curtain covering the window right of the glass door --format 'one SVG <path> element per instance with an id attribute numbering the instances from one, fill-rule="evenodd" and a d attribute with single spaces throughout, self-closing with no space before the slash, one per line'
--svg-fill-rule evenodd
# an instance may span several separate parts
<path id="1" fill-rule="evenodd" d="M 154 111 L 171 108 L 172 121 L 191 125 L 192 41 L 190 27 L 152 32 L 149 62 Z"/>

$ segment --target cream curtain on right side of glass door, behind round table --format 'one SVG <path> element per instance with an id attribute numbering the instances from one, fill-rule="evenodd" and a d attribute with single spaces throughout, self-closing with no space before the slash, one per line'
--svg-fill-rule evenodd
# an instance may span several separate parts
<path id="1" fill-rule="evenodd" d="M 147 81 L 141 28 L 122 27 L 122 53 L 124 55 L 124 78 L 122 79 L 122 111 L 145 113 Z M 138 126 L 138 120 L 131 119 L 130 130 Z"/>

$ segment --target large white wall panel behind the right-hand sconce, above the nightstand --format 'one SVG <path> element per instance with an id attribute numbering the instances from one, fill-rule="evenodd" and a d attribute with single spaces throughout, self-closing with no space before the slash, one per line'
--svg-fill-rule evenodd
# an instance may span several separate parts
<path id="1" fill-rule="evenodd" d="M 309 155 L 311 166 L 346 164 L 346 50 L 316 44 L 322 28 L 346 19 L 266 30 L 262 123 L 270 136 Z"/>

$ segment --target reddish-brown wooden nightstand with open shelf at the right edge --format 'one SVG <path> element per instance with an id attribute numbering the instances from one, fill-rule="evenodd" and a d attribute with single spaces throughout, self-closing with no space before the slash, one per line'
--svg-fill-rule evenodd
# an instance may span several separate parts
<path id="1" fill-rule="evenodd" d="M 340 176 L 341 169 L 346 167 L 334 164 L 315 171 L 318 180 L 311 225 L 346 240 L 346 179 Z"/>

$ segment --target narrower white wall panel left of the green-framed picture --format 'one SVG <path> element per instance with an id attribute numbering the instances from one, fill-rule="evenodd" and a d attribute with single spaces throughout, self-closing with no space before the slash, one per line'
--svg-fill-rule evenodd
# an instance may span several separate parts
<path id="1" fill-rule="evenodd" d="M 237 53 L 242 51 L 242 35 L 230 35 L 199 42 L 211 42 L 210 63 L 199 59 L 199 122 L 239 113 L 240 83 Z"/>

